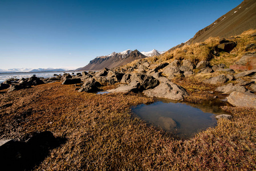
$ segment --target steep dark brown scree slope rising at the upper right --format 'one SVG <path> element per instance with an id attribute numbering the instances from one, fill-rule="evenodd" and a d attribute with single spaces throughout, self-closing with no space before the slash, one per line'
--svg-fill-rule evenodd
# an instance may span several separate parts
<path id="1" fill-rule="evenodd" d="M 250 28 L 256 29 L 256 1 L 245 0 L 233 10 L 222 15 L 211 25 L 198 31 L 186 43 L 204 42 L 209 37 L 229 38 Z"/>

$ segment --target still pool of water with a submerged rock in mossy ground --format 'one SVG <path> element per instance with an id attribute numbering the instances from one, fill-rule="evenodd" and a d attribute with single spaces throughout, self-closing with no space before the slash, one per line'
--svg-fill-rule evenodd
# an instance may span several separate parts
<path id="1" fill-rule="evenodd" d="M 214 114 L 225 113 L 220 105 L 224 104 L 206 101 L 204 104 L 188 105 L 177 103 L 177 101 L 162 100 L 149 105 L 137 105 L 132 111 L 141 119 L 165 131 L 172 132 L 181 138 L 189 138 L 217 124 Z"/>

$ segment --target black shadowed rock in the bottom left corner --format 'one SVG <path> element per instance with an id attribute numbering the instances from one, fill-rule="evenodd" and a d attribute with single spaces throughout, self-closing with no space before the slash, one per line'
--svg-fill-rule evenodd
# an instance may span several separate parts
<path id="1" fill-rule="evenodd" d="M 52 132 L 36 133 L 29 140 L 0 140 L 0 166 L 3 170 L 31 170 L 46 158 L 51 149 L 66 139 L 54 137 Z"/>

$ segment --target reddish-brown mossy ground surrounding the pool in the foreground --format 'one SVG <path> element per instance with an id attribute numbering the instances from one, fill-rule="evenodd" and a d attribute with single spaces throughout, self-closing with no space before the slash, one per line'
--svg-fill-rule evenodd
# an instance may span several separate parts
<path id="1" fill-rule="evenodd" d="M 224 107 L 233 119 L 178 140 L 131 114 L 133 105 L 154 101 L 135 93 L 79 93 L 51 83 L 0 93 L 0 99 L 1 139 L 46 130 L 67 138 L 35 170 L 256 169 L 253 108 Z"/>

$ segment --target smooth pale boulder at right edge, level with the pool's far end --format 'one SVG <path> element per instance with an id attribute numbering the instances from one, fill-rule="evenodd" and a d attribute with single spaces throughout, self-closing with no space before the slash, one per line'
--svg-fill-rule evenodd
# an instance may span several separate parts
<path id="1" fill-rule="evenodd" d="M 250 92 L 232 92 L 227 97 L 227 101 L 237 107 L 256 108 L 256 95 Z"/>

